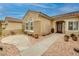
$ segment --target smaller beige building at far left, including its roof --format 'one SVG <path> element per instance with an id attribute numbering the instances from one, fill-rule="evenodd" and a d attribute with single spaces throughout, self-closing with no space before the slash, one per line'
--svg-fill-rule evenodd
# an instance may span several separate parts
<path id="1" fill-rule="evenodd" d="M 22 32 L 22 20 L 6 17 L 2 23 L 2 35 L 10 35 Z"/>

